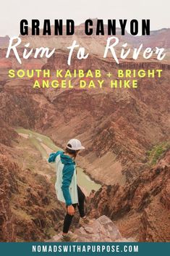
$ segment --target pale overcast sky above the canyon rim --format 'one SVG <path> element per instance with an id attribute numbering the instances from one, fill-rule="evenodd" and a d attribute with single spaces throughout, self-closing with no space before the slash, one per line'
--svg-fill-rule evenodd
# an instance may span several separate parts
<path id="1" fill-rule="evenodd" d="M 150 19 L 150 30 L 158 30 L 170 27 L 169 10 L 170 0 L 4 0 L 0 9 L 0 36 L 18 36 L 22 19 L 72 19 L 76 24 L 89 17 Z"/>

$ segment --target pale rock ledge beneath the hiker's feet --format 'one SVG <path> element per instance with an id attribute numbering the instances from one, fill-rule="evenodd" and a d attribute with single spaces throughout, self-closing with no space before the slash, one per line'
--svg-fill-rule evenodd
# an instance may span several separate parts
<path id="1" fill-rule="evenodd" d="M 72 234 L 72 232 L 70 232 Z M 105 215 L 94 219 L 91 224 L 84 224 L 76 228 L 74 235 L 77 236 L 75 241 L 133 241 L 132 238 L 124 239 L 116 225 Z M 48 241 L 61 241 L 61 234 L 54 236 Z"/>

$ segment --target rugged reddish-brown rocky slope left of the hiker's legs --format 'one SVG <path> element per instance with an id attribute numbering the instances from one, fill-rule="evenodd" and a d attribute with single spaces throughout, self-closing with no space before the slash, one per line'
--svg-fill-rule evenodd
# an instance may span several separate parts
<path id="1" fill-rule="evenodd" d="M 0 154 L 0 241 L 43 241 L 63 216 L 54 186 Z"/>

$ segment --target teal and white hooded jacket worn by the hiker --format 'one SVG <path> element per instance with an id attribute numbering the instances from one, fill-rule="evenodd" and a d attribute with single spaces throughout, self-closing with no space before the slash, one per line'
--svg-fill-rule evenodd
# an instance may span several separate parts
<path id="1" fill-rule="evenodd" d="M 57 198 L 66 205 L 76 204 L 78 197 L 75 161 L 64 152 L 58 151 L 50 154 L 48 162 L 56 162 Z"/>

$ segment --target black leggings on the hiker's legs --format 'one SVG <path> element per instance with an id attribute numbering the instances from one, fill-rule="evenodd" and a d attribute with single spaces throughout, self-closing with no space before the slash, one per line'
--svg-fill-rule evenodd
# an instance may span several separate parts
<path id="1" fill-rule="evenodd" d="M 76 206 L 78 207 L 79 213 L 80 213 L 80 217 L 84 217 L 85 216 L 85 209 L 84 209 L 84 202 L 85 202 L 85 194 L 81 191 L 80 187 L 77 186 L 77 193 L 78 193 L 78 205 L 77 204 L 72 204 L 73 207 L 76 208 Z M 74 215 L 69 215 L 67 213 L 67 215 L 65 215 L 64 218 L 64 226 L 63 226 L 63 233 L 68 233 L 69 231 L 69 226 L 72 223 L 72 218 Z"/>

